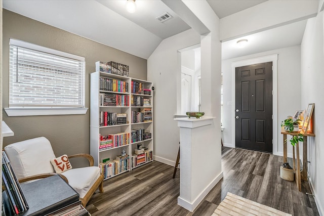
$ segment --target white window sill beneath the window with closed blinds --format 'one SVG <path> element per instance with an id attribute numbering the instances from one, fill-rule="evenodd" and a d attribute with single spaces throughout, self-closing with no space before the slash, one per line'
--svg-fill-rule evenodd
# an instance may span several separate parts
<path id="1" fill-rule="evenodd" d="M 32 115 L 79 115 L 86 114 L 88 108 L 47 108 L 47 107 L 12 107 L 4 108 L 8 116 Z"/>

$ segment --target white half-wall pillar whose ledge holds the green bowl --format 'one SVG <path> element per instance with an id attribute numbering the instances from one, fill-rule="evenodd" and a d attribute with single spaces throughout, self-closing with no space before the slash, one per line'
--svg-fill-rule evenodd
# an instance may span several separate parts
<path id="1" fill-rule="evenodd" d="M 180 196 L 178 204 L 193 211 L 223 178 L 219 170 L 215 117 L 175 118 L 180 127 Z M 218 128 L 218 127 L 217 127 Z"/>

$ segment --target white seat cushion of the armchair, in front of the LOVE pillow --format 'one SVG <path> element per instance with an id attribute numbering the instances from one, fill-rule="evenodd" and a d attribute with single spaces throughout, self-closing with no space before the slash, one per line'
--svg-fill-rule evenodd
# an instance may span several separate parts
<path id="1" fill-rule="evenodd" d="M 73 168 L 62 173 L 69 185 L 83 198 L 100 176 L 98 166 Z"/>

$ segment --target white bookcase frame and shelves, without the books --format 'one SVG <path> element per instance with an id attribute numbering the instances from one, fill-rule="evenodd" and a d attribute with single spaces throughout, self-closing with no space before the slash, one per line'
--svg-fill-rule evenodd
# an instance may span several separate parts
<path id="1" fill-rule="evenodd" d="M 97 68 L 96 68 L 97 69 Z M 100 77 L 111 78 L 116 80 L 125 81 L 128 83 L 128 92 L 112 92 L 112 91 L 103 91 L 100 90 Z M 153 83 L 135 79 L 132 77 L 126 77 L 101 71 L 96 71 L 91 73 L 91 91 L 90 91 L 90 154 L 94 158 L 95 165 L 99 166 L 99 163 L 103 161 L 103 159 L 110 158 L 110 160 L 115 159 L 117 155 L 120 155 L 123 149 L 125 148 L 126 153 L 130 156 L 129 158 L 129 170 L 132 170 L 138 166 L 146 164 L 148 162 L 153 161 L 153 119 L 149 122 L 137 122 L 132 123 L 132 111 L 140 112 L 141 108 L 150 108 L 151 114 L 153 117 L 153 91 L 151 91 L 150 95 L 143 94 L 132 94 L 132 81 L 140 82 L 143 85 L 143 89 L 152 90 Z M 100 94 L 108 93 L 108 94 L 116 94 L 116 95 L 124 95 L 129 97 L 129 106 L 102 106 L 100 105 Z M 140 99 L 150 99 L 150 106 L 132 106 L 132 97 L 138 97 Z M 126 113 L 127 114 L 127 123 L 126 124 L 117 124 L 117 125 L 107 125 L 100 126 L 100 112 L 115 112 L 115 113 Z M 145 132 L 151 133 L 151 138 L 147 140 L 142 140 L 138 142 L 132 143 L 132 130 L 134 129 L 144 129 Z M 100 135 L 106 136 L 108 134 L 117 134 L 117 133 L 127 133 L 130 135 L 129 144 L 123 146 L 112 147 L 109 149 L 99 150 L 100 145 Z M 147 147 L 149 151 L 152 151 L 152 160 L 147 160 L 145 163 L 141 163 L 138 166 L 132 167 L 132 155 L 134 153 L 134 149 L 137 148 L 137 144 L 141 143 L 143 147 Z M 123 172 L 118 173 L 120 175 Z M 116 175 L 115 175 L 116 176 Z M 114 176 L 112 176 L 114 177 Z M 109 178 L 112 178 L 109 177 Z M 106 179 L 109 179 L 106 178 Z M 105 179 L 105 180 L 106 180 Z"/>

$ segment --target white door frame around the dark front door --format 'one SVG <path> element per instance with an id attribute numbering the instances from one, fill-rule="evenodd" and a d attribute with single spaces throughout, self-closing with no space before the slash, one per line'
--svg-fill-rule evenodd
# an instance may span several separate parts
<path id="1" fill-rule="evenodd" d="M 277 95 L 277 60 L 278 60 L 278 54 L 270 55 L 270 56 L 263 56 L 263 57 L 257 57 L 253 59 L 247 59 L 247 60 L 241 60 L 232 62 L 232 106 L 231 106 L 231 118 L 232 118 L 232 146 L 235 148 L 235 68 L 236 67 L 242 67 L 242 66 L 248 66 L 248 65 L 254 65 L 254 64 L 260 64 L 260 63 L 266 63 L 266 62 L 272 62 L 272 154 L 277 155 L 278 154 L 278 95 Z"/>

